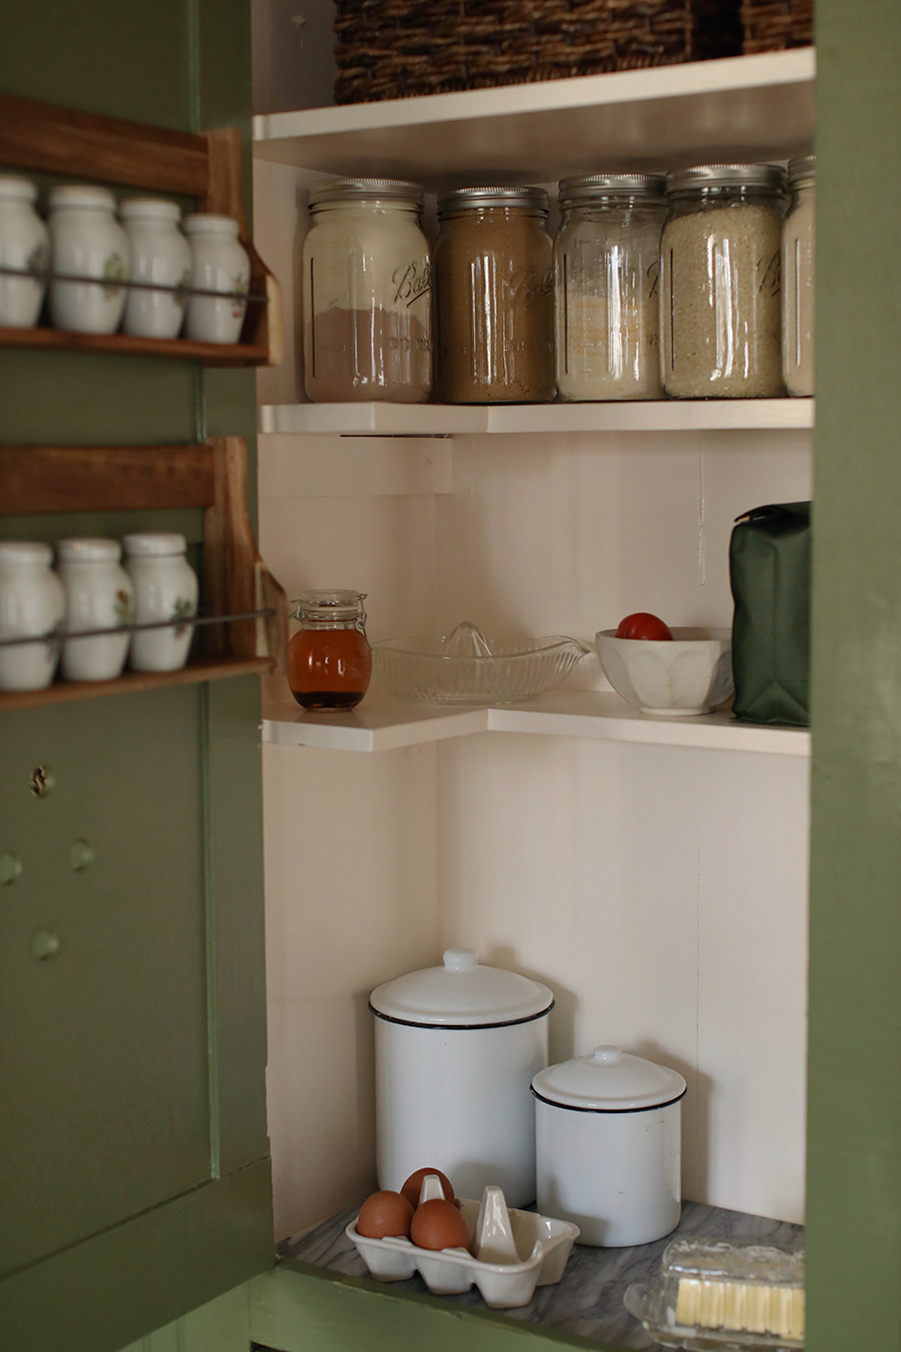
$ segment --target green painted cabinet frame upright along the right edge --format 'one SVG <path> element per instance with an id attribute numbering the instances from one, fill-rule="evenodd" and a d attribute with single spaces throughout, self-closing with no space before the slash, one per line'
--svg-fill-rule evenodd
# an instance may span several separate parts
<path id="1" fill-rule="evenodd" d="M 817 0 L 810 1352 L 901 1347 L 901 7 Z"/>

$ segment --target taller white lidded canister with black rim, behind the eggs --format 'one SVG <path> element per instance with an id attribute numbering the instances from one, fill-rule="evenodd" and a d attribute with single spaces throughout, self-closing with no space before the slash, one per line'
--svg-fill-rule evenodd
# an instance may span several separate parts
<path id="1" fill-rule="evenodd" d="M 553 992 L 451 948 L 442 967 L 399 976 L 369 996 L 376 1015 L 379 1187 L 442 1169 L 460 1197 L 502 1187 L 534 1201 L 532 1076 L 548 1064 Z"/>

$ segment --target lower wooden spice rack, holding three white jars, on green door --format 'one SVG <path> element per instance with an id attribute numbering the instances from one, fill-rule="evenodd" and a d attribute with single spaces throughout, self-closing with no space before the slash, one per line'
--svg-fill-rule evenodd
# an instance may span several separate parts
<path id="1" fill-rule="evenodd" d="M 219 615 L 258 619 L 210 627 L 207 652 L 176 672 L 124 672 L 107 681 L 57 680 L 47 690 L 0 692 L 0 711 L 95 699 L 193 681 L 284 672 L 288 602 L 253 539 L 248 449 L 239 437 L 191 446 L 0 446 L 7 515 L 202 507 L 203 595 Z"/>

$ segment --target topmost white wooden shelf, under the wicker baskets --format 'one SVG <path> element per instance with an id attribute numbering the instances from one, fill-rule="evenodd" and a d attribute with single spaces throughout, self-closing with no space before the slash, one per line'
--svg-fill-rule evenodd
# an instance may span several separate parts
<path id="1" fill-rule="evenodd" d="M 813 49 L 254 118 L 254 154 L 338 174 L 549 183 L 813 146 Z"/>

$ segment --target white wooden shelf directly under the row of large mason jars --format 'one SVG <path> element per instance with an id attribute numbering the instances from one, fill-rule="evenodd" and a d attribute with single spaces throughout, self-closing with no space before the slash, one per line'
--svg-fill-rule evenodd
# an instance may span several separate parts
<path id="1" fill-rule="evenodd" d="M 655 399 L 603 404 L 264 404 L 260 431 L 340 437 L 728 431 L 813 427 L 813 399 Z"/>

